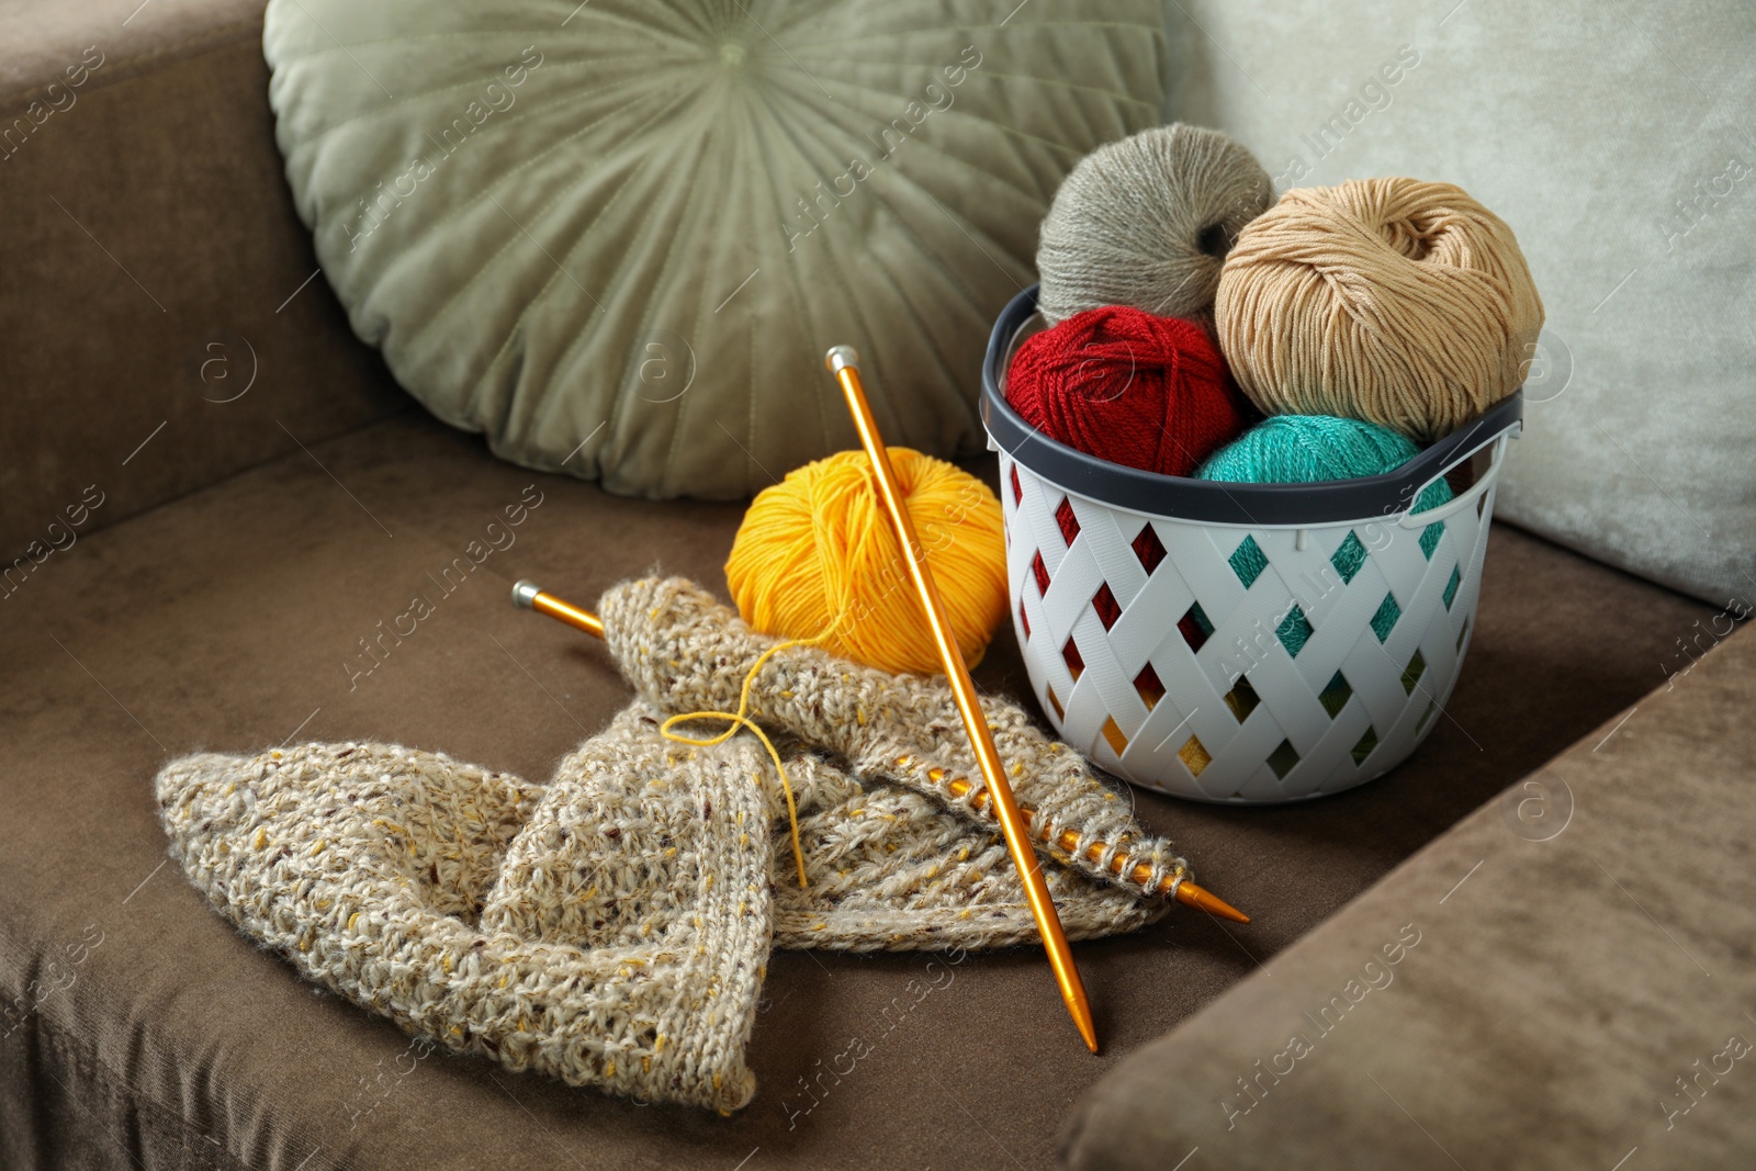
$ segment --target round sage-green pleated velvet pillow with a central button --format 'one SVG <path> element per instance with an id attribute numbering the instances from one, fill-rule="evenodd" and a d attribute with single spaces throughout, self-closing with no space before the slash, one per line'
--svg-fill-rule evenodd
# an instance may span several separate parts
<path id="1" fill-rule="evenodd" d="M 1159 121 L 1157 0 L 270 0 L 299 214 L 365 341 L 504 458 L 743 497 L 980 448 L 994 314 L 1092 147 Z"/>

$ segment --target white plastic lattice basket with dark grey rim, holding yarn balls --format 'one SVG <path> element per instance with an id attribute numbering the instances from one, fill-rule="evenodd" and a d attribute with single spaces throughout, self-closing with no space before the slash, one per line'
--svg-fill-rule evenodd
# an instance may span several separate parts
<path id="1" fill-rule="evenodd" d="M 994 327 L 982 416 L 1001 453 L 1011 623 L 1061 737 L 1136 785 L 1245 804 L 1352 788 L 1408 757 L 1447 718 L 1470 646 L 1521 395 L 1387 476 L 1157 476 L 1006 406 L 1034 325 L 1031 288 Z M 1412 514 L 1450 472 L 1454 499 Z"/>

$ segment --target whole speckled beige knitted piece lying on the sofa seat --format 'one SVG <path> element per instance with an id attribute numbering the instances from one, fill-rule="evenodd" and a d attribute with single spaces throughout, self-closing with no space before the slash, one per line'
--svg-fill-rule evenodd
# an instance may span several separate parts
<path id="1" fill-rule="evenodd" d="M 688 688 L 666 674 L 669 711 L 697 699 L 723 706 L 722 672 L 736 708 L 748 665 L 771 646 L 680 579 L 620 586 L 604 606 L 630 678 L 657 685 L 637 669 L 657 657 L 666 672 L 694 664 L 715 681 Z M 871 676 L 894 693 L 871 690 Z M 745 1046 L 771 943 L 948 950 L 1036 939 L 992 822 L 911 788 L 931 787 L 924 774 L 859 767 L 908 755 L 966 769 L 968 750 L 959 757 L 952 743 L 955 708 L 955 734 L 936 725 L 950 702 L 943 683 L 788 648 L 764 669 L 757 697 L 769 702 L 780 685 L 773 699 L 785 704 L 783 692 L 824 678 L 867 704 L 864 723 L 852 720 L 869 739 L 839 736 L 838 750 L 824 743 L 827 725 L 801 722 L 818 732 L 806 741 L 785 720 L 764 720 L 797 802 L 804 888 L 780 778 L 755 737 L 678 744 L 658 734 L 666 708 L 644 693 L 546 787 L 397 744 L 302 744 L 174 760 L 158 801 L 193 883 L 304 976 L 511 1069 L 736 1110 L 755 1092 Z M 832 711 L 839 699 L 818 704 Z M 1096 832 L 1178 866 L 1168 844 L 1140 841 L 1076 755 L 1008 713 L 1022 718 L 990 706 L 1020 799 L 1029 794 L 1050 823 L 1092 816 Z M 1033 769 L 1062 778 L 1068 794 Z M 1045 871 L 1071 938 L 1134 930 L 1168 909 L 1117 880 Z"/>

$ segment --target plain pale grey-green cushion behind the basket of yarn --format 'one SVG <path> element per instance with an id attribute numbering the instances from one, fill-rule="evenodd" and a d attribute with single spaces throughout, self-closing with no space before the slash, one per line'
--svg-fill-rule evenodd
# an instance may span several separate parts
<path id="1" fill-rule="evenodd" d="M 1168 116 L 1243 139 L 1277 190 L 1447 179 L 1517 232 L 1549 323 L 1500 516 L 1756 600 L 1756 7 L 1171 0 L 1166 23 Z"/>

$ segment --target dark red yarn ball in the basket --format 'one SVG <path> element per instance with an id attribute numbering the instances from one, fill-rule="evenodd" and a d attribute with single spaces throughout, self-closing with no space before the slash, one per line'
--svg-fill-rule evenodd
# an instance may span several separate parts
<path id="1" fill-rule="evenodd" d="M 1018 348 L 1006 402 L 1099 460 L 1192 476 L 1252 418 L 1206 330 L 1127 305 L 1087 309 Z"/>

